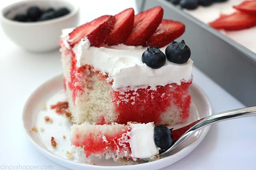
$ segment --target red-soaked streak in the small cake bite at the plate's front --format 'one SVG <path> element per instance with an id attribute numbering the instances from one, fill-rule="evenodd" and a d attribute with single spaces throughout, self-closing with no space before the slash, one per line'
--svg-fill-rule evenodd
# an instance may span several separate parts
<path id="1" fill-rule="evenodd" d="M 117 133 L 113 136 L 104 135 L 106 140 L 102 138 L 103 135 L 95 136 L 93 133 L 90 133 L 86 136 L 80 136 L 79 134 L 77 134 L 76 140 L 73 140 L 71 142 L 76 147 L 82 146 L 84 148 L 84 153 L 86 157 L 89 157 L 91 154 L 104 153 L 108 149 L 111 149 L 113 152 L 117 152 L 118 150 L 127 150 L 131 152 L 130 144 L 128 142 L 124 142 L 121 145 L 119 144 L 122 135 L 127 132 L 128 130 L 123 131 L 122 133 Z M 81 137 L 82 140 L 80 139 Z M 128 156 L 127 158 L 129 159 L 130 156 Z"/>

